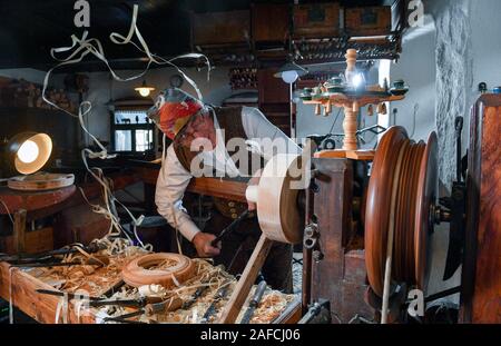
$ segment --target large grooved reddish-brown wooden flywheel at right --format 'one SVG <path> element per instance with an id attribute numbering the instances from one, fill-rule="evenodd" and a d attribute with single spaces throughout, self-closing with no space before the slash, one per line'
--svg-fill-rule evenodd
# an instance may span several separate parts
<path id="1" fill-rule="evenodd" d="M 409 139 L 404 128 L 383 136 L 374 158 L 365 209 L 365 263 L 369 283 L 382 297 L 390 231 L 391 279 L 425 289 L 429 238 L 438 188 L 438 140 Z M 390 239 L 391 240 L 391 239 Z"/>

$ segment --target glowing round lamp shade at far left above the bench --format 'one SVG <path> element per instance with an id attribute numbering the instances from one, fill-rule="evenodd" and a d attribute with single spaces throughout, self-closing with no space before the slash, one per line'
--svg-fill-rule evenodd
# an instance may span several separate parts
<path id="1" fill-rule="evenodd" d="M 46 134 L 22 132 L 7 145 L 8 165 L 22 175 L 40 170 L 52 154 L 52 140 Z"/>

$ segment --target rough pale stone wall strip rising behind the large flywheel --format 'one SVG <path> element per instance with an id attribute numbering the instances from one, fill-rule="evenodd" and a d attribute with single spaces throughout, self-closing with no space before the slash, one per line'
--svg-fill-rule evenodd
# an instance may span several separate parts
<path id="1" fill-rule="evenodd" d="M 450 188 L 455 172 L 458 116 L 468 118 L 473 86 L 472 29 L 468 0 L 440 1 L 432 8 L 436 27 L 436 111 L 440 144 L 440 179 Z"/>

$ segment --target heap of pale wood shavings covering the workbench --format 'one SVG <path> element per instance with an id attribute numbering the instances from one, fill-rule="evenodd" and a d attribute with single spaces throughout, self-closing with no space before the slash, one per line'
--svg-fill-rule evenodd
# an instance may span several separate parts
<path id="1" fill-rule="evenodd" d="M 79 261 L 82 265 L 70 267 L 52 267 L 52 268 L 30 268 L 28 274 L 35 276 L 37 279 L 50 285 L 55 289 L 60 289 L 65 293 L 82 294 L 90 297 L 105 297 L 105 293 L 111 291 L 112 287 L 117 287 L 121 281 L 121 269 L 129 261 L 138 256 L 147 254 L 144 249 L 130 246 L 126 239 L 99 239 L 100 245 L 105 245 L 105 249 L 97 254 L 75 253 L 66 255 L 62 261 Z M 90 256 L 107 256 L 109 264 L 105 267 L 96 267 L 85 265 Z M 151 303 L 164 301 L 164 310 L 153 309 L 151 305 L 147 305 L 146 313 L 130 318 L 132 322 L 150 323 L 150 324 L 199 324 L 213 304 L 216 293 L 227 287 L 227 294 L 215 305 L 214 314 L 208 318 L 208 323 L 217 323 L 220 318 L 223 309 L 227 304 L 232 293 L 236 286 L 236 278 L 224 270 L 223 266 L 213 266 L 204 259 L 193 259 L 194 276 L 170 288 L 150 285 L 135 288 L 128 285 L 121 285 L 112 291 L 108 299 L 140 299 L 147 298 Z M 157 269 L 168 268 L 169 263 L 163 263 L 157 266 Z M 193 300 L 194 294 L 199 288 L 202 289 L 199 296 L 189 307 L 183 308 L 183 304 Z M 253 290 L 255 287 L 253 288 Z M 252 291 L 253 291 L 252 290 Z M 253 294 L 250 293 L 249 296 Z M 295 296 L 284 295 L 279 291 L 268 289 L 258 308 L 256 309 L 250 323 L 267 324 L 279 316 L 287 305 Z M 85 304 L 85 299 L 70 299 L 72 312 L 77 314 L 76 320 L 80 320 L 80 315 L 90 316 L 96 323 L 105 323 L 107 317 L 118 317 L 128 313 L 135 313 L 137 307 L 125 307 L 118 305 L 102 306 L 99 308 L 89 308 Z M 243 312 L 247 308 L 244 306 Z M 67 316 L 68 306 L 63 303 L 57 308 L 58 322 L 65 323 L 70 320 Z M 243 315 L 243 313 L 242 313 Z M 242 316 L 239 317 L 242 318 Z M 239 320 L 239 319 L 237 319 Z M 106 322 L 112 323 L 112 322 Z"/>

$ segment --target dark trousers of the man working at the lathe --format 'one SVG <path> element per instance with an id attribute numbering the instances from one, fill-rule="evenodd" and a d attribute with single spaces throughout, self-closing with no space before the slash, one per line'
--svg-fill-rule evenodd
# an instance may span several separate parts
<path id="1" fill-rule="evenodd" d="M 217 235 L 230 223 L 230 218 L 214 210 L 204 231 Z M 220 255 L 214 258 L 215 265 L 224 265 L 229 274 L 242 274 L 259 240 L 261 234 L 256 217 L 242 221 L 233 233 L 223 239 Z M 196 256 L 193 245 L 189 244 L 188 247 L 190 248 L 186 249 L 187 255 Z M 292 257 L 292 245 L 274 243 L 262 268 L 263 278 L 273 289 L 286 294 L 293 293 Z"/>

